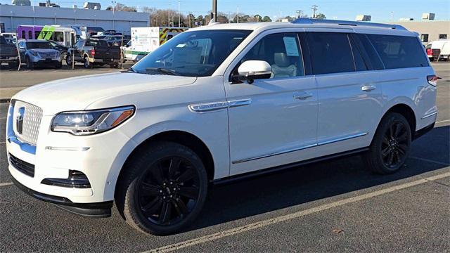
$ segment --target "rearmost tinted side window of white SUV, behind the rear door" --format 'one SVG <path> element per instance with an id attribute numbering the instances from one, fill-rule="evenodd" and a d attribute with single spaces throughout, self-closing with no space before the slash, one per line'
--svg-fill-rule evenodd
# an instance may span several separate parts
<path id="1" fill-rule="evenodd" d="M 416 37 L 368 34 L 387 69 L 426 67 L 428 60 Z"/>

